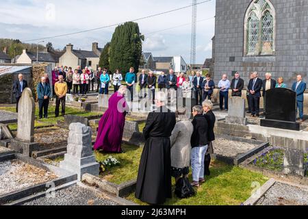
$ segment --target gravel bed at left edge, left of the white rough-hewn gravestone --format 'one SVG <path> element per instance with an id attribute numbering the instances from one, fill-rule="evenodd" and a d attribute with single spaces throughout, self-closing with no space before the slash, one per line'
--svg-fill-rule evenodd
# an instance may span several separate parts
<path id="1" fill-rule="evenodd" d="M 0 162 L 0 195 L 56 179 L 52 172 L 17 159 Z"/>

